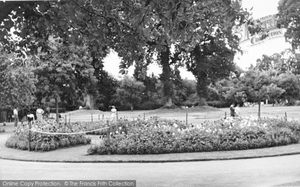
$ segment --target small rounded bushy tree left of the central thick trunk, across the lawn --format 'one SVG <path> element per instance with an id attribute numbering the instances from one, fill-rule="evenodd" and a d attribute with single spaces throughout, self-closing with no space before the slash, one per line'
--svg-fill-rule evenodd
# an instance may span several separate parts
<path id="1" fill-rule="evenodd" d="M 129 105 L 131 111 L 142 100 L 145 86 L 142 82 L 125 76 L 119 83 L 119 87 L 116 89 L 114 98 L 115 101 L 121 105 Z"/>

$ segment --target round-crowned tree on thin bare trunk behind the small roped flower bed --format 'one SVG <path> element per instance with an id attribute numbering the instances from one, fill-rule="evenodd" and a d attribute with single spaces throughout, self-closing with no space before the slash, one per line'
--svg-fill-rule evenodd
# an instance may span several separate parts
<path id="1" fill-rule="evenodd" d="M 92 86 L 95 83 L 94 69 L 82 46 L 59 45 L 51 53 L 40 53 L 34 64 L 38 78 L 37 95 L 39 100 L 55 99 L 57 123 L 58 101 L 80 104 L 85 94 L 95 91 Z"/>

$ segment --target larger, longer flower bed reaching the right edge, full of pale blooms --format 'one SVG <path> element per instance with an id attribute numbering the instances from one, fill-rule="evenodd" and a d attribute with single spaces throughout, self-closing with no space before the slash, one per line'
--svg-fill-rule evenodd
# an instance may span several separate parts
<path id="1" fill-rule="evenodd" d="M 111 131 L 110 144 L 92 145 L 87 153 L 167 154 L 245 150 L 298 143 L 300 124 L 284 119 L 225 119 L 185 127 L 163 119 L 133 120 Z M 110 145 L 110 146 L 109 146 Z"/>

